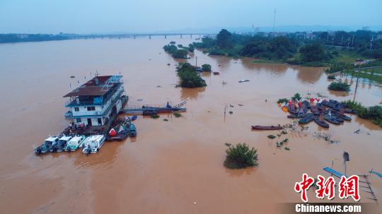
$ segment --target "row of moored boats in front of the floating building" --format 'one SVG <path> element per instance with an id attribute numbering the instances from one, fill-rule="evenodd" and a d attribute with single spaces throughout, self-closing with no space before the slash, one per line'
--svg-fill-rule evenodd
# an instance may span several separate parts
<path id="1" fill-rule="evenodd" d="M 79 148 L 84 154 L 98 153 L 105 141 L 123 141 L 127 136 L 137 136 L 137 129 L 131 121 L 129 117 L 126 117 L 120 124 L 110 129 L 106 135 L 96 134 L 87 137 L 84 135 L 50 136 L 34 149 L 35 154 L 74 152 Z"/>

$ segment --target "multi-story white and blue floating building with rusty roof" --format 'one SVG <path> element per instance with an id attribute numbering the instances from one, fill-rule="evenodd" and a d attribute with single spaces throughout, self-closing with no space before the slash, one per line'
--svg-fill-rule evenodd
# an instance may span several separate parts
<path id="1" fill-rule="evenodd" d="M 110 126 L 127 102 L 122 76 L 96 76 L 64 97 L 69 97 L 65 117 L 90 129 Z"/>

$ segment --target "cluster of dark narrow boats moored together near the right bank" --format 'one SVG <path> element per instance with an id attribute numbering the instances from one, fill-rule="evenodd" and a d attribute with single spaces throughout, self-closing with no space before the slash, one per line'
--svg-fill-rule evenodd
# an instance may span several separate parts
<path id="1" fill-rule="evenodd" d="M 311 110 L 308 113 L 308 110 Z M 315 121 L 316 124 L 324 128 L 329 128 L 328 121 L 331 124 L 342 124 L 344 121 L 351 121 L 352 118 L 348 114 L 355 114 L 352 109 L 347 109 L 344 104 L 337 100 L 323 100 L 323 102 L 311 105 L 308 101 L 304 100 L 301 107 L 289 106 L 288 118 L 298 118 L 299 124 L 308 124 Z"/>

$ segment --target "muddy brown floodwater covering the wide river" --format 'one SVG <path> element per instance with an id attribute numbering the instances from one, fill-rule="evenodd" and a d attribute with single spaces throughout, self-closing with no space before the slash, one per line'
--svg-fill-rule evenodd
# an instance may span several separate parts
<path id="1" fill-rule="evenodd" d="M 220 75 L 203 73 L 206 88 L 175 88 L 178 61 L 161 49 L 170 40 L 192 41 L 153 37 L 0 45 L 1 213 L 282 213 L 281 203 L 300 201 L 294 183 L 303 172 L 328 176 L 322 169 L 332 161 L 335 170 L 344 172 L 345 150 L 350 155 L 348 174 L 365 174 L 371 168 L 382 172 L 381 128 L 356 116 L 330 129 L 311 123 L 306 131 L 274 140 L 267 135 L 277 131 L 250 130 L 254 124 L 291 122 L 275 103 L 280 97 L 321 93 L 349 100 L 354 80 L 344 79 L 352 83 L 350 93 L 333 93 L 320 68 L 254 64 L 196 51 L 189 61 L 195 64 L 197 56 L 199 65 L 211 64 Z M 35 156 L 34 145 L 69 124 L 62 96 L 96 71 L 125 76 L 128 105 L 187 101 L 187 112 L 180 118 L 139 117 L 137 138 L 105 143 L 96 155 L 77 151 Z M 238 83 L 240 79 L 250 82 Z M 356 100 L 377 105 L 381 91 L 361 82 Z M 224 119 L 225 106 L 233 114 Z M 313 138 L 316 131 L 331 133 L 340 143 Z M 276 148 L 277 139 L 283 138 L 289 138 L 291 150 Z M 259 166 L 227 170 L 226 142 L 257 148 Z M 369 180 L 381 199 L 382 179 Z M 308 196 L 318 201 L 314 191 Z M 361 202 L 371 203 L 369 197 L 361 191 Z"/>

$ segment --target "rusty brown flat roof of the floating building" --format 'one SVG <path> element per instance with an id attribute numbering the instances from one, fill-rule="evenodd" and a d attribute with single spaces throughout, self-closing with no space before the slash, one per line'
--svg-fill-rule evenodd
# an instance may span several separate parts
<path id="1" fill-rule="evenodd" d="M 120 83 L 121 78 L 122 76 L 96 76 L 90 81 L 83 83 L 79 88 L 64 95 L 64 97 L 102 96 L 108 93 L 108 91 L 115 85 Z"/>

